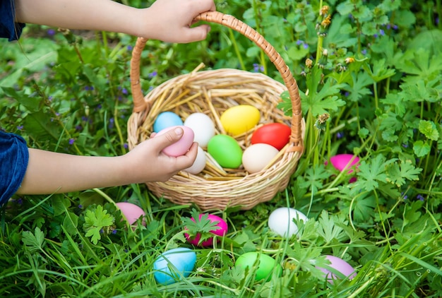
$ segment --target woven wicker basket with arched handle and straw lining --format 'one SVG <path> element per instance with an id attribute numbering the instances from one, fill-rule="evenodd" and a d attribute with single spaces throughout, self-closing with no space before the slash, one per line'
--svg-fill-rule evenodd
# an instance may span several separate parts
<path id="1" fill-rule="evenodd" d="M 304 119 L 297 83 L 280 54 L 258 33 L 236 18 L 219 12 L 202 13 L 196 20 L 219 23 L 237 30 L 261 47 L 275 64 L 285 85 L 263 75 L 223 68 L 195 71 L 172 78 L 143 95 L 140 84 L 141 52 L 147 40 L 138 38 L 131 60 L 133 114 L 128 122 L 129 149 L 149 138 L 153 122 L 160 112 L 172 111 L 184 120 L 193 112 L 207 114 L 215 123 L 217 133 L 225 133 L 220 115 L 235 105 L 253 105 L 261 111 L 259 125 L 280 122 L 291 126 L 289 144 L 270 164 L 254 174 L 239 169 L 222 169 L 208 155 L 206 167 L 198 175 L 181 171 L 166 182 L 148 182 L 155 196 L 177 204 L 198 205 L 201 210 L 223 210 L 239 206 L 246 210 L 258 203 L 270 201 L 287 187 L 290 176 L 303 153 Z M 288 90 L 292 100 L 292 117 L 276 108 L 280 95 Z M 257 127 L 259 127 L 259 125 Z M 243 150 L 250 145 L 253 131 L 235 136 Z"/>

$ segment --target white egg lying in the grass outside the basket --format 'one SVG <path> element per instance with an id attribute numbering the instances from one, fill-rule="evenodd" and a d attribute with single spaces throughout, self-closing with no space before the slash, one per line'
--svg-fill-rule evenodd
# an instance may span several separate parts
<path id="1" fill-rule="evenodd" d="M 292 235 L 298 234 L 298 226 L 293 220 L 306 222 L 309 218 L 294 208 L 277 208 L 268 217 L 268 227 L 282 237 L 292 237 Z"/>

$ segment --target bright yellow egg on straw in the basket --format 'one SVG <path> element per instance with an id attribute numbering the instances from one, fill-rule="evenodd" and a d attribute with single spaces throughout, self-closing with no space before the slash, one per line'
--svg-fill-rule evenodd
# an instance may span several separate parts
<path id="1" fill-rule="evenodd" d="M 245 133 L 258 124 L 261 115 L 256 107 L 251 105 L 237 105 L 230 107 L 222 113 L 220 120 L 225 131 L 237 136 Z"/>

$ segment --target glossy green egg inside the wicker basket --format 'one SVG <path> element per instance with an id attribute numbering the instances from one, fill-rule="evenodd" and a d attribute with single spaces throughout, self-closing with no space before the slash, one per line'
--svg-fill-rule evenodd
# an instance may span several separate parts
<path id="1" fill-rule="evenodd" d="M 236 169 L 242 163 L 242 149 L 237 140 L 225 134 L 210 138 L 207 151 L 221 167 Z"/>

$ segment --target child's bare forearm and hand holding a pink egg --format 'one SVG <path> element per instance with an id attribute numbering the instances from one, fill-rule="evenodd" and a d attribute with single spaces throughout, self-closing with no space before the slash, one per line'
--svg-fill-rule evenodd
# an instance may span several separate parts
<path id="1" fill-rule="evenodd" d="M 29 163 L 17 193 L 49 194 L 82 191 L 148 181 L 167 181 L 186 169 L 196 158 L 198 145 L 179 157 L 169 157 L 162 149 L 181 138 L 169 131 L 150 138 L 118 157 L 78 156 L 29 149 Z"/>

